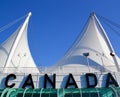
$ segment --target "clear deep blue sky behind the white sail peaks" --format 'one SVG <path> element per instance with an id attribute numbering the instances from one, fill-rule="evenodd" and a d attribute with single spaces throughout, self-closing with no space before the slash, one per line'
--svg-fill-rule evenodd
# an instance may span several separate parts
<path id="1" fill-rule="evenodd" d="M 45 66 L 56 63 L 64 55 L 91 12 L 120 24 L 120 0 L 0 0 L 0 26 L 29 11 L 32 12 L 30 50 L 36 64 Z M 117 38 L 111 38 L 114 39 Z M 113 45 L 120 53 L 118 40 Z"/>

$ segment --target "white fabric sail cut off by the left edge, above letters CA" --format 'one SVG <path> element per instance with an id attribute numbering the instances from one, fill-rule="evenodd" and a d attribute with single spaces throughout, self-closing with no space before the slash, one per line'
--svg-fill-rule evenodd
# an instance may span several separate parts
<path id="1" fill-rule="evenodd" d="M 27 27 L 31 13 L 25 22 L 0 46 L 0 67 L 4 73 L 39 73 L 28 46 Z"/>

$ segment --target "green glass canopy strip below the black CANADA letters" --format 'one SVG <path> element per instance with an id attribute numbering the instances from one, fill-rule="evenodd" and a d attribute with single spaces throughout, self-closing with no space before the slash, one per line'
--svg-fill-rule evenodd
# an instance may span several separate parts
<path id="1" fill-rule="evenodd" d="M 120 97 L 120 88 L 0 89 L 0 97 Z"/>

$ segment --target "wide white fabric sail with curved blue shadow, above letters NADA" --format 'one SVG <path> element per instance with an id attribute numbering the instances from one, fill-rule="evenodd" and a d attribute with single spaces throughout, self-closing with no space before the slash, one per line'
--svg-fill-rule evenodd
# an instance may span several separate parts
<path id="1" fill-rule="evenodd" d="M 65 56 L 49 69 L 49 72 L 117 71 L 116 64 L 118 65 L 119 60 L 113 52 L 103 27 L 96 15 L 92 14 L 81 35 Z"/>

